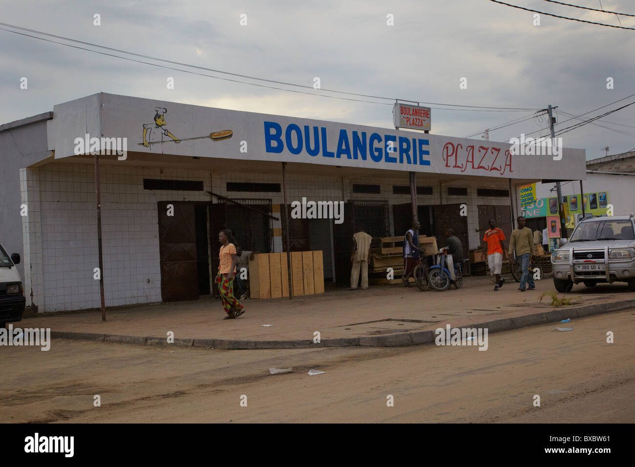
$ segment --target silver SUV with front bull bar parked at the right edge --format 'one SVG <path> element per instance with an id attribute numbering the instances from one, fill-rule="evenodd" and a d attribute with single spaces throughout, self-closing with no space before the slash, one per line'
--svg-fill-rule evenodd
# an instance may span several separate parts
<path id="1" fill-rule="evenodd" d="M 627 282 L 635 292 L 635 215 L 582 220 L 569 241 L 551 254 L 554 285 L 569 292 L 583 282 Z"/>

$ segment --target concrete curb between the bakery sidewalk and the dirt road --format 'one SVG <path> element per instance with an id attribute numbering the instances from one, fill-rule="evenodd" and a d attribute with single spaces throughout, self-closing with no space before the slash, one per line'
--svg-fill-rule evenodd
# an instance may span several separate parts
<path id="1" fill-rule="evenodd" d="M 500 318 L 499 320 L 481 323 L 464 323 L 451 325 L 453 328 L 487 328 L 491 332 L 501 332 L 555 323 L 566 318 L 584 318 L 586 316 L 601 315 L 613 311 L 635 308 L 634 300 L 593 304 L 572 308 L 556 308 L 544 313 L 515 316 L 514 318 Z M 434 342 L 434 330 L 397 332 L 384 335 L 365 335 L 361 337 L 344 337 L 342 339 L 322 339 L 314 343 L 311 339 L 298 341 L 247 341 L 243 339 L 174 339 L 173 344 L 166 342 L 166 337 L 140 337 L 136 335 L 92 334 L 89 332 L 51 331 L 52 339 L 71 339 L 73 341 L 99 341 L 116 344 L 157 345 L 194 347 L 204 349 L 308 349 L 316 347 L 405 347 Z"/>

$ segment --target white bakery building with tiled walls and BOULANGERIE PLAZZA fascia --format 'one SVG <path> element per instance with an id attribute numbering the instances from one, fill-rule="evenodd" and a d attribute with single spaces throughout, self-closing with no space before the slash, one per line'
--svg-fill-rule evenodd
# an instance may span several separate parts
<path id="1" fill-rule="evenodd" d="M 117 141 L 124 154 L 110 151 Z M 443 244 L 452 227 L 467 257 L 490 217 L 511 231 L 521 184 L 586 177 L 584 150 L 553 160 L 509 149 L 97 93 L 0 126 L 0 241 L 22 256 L 34 311 L 100 307 L 99 173 L 105 305 L 196 299 L 213 290 L 220 229 L 244 250 L 285 251 L 284 162 L 287 210 L 303 197 L 345 203 L 342 223 L 289 222 L 290 250 L 323 250 L 326 280 L 344 285 L 356 227 L 404 234 L 413 198 L 420 234 Z"/>

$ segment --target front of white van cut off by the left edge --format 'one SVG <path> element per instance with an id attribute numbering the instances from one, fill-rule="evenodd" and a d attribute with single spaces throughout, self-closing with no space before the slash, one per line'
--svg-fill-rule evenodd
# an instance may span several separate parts
<path id="1" fill-rule="evenodd" d="M 10 257 L 0 243 L 0 327 L 21 321 L 27 301 L 16 264 L 20 264 L 20 255 Z"/>

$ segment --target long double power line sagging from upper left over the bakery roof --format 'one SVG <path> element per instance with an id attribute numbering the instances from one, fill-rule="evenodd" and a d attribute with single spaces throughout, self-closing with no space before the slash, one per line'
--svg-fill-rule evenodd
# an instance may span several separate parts
<path id="1" fill-rule="evenodd" d="M 397 98 L 392 98 L 392 97 L 382 97 L 382 96 L 367 95 L 367 94 L 360 94 L 360 93 L 352 93 L 352 92 L 348 92 L 348 91 L 338 91 L 338 90 L 331 90 L 331 89 L 318 89 L 318 90 L 316 90 L 312 86 L 298 85 L 296 83 L 287 83 L 285 81 L 276 81 L 274 79 L 257 78 L 255 76 L 248 76 L 248 75 L 244 75 L 244 74 L 238 74 L 238 73 L 232 73 L 232 72 L 227 72 L 227 71 L 222 71 L 222 70 L 217 70 L 217 69 L 200 67 L 200 66 L 197 66 L 197 65 L 185 64 L 185 63 L 182 63 L 182 62 L 175 62 L 173 60 L 166 60 L 164 58 L 151 57 L 150 55 L 143 55 L 143 54 L 140 54 L 140 53 L 130 52 L 130 51 L 116 49 L 116 48 L 111 48 L 111 47 L 102 46 L 102 45 L 99 45 L 99 44 L 88 43 L 88 42 L 79 41 L 79 40 L 76 40 L 76 39 L 70 39 L 69 37 L 56 36 L 55 34 L 48 34 L 47 32 L 41 32 L 39 30 L 28 29 L 28 28 L 15 26 L 15 25 L 11 25 L 11 24 L 6 24 L 6 23 L 2 23 L 2 22 L 0 22 L 0 25 L 3 25 L 5 27 L 11 27 L 11 28 L 14 28 L 14 29 L 27 31 L 27 32 L 31 32 L 33 34 L 40 34 L 41 36 L 55 37 L 56 39 L 62 39 L 64 41 L 69 41 L 69 42 L 76 43 L 76 44 L 83 44 L 83 45 L 86 45 L 86 46 L 101 48 L 101 49 L 104 49 L 104 50 L 109 50 L 109 51 L 113 51 L 113 52 L 117 52 L 117 53 L 124 53 L 124 54 L 127 54 L 127 55 L 132 55 L 133 57 L 140 57 L 140 58 L 145 58 L 145 59 L 148 59 L 148 60 L 155 60 L 157 62 L 164 62 L 164 63 L 168 63 L 168 64 L 172 64 L 172 65 L 178 65 L 178 66 L 181 66 L 181 67 L 189 67 L 189 68 L 199 69 L 199 70 L 203 70 L 203 71 L 211 71 L 211 72 L 215 72 L 215 73 L 226 74 L 226 75 L 229 75 L 229 76 L 235 76 L 237 78 L 253 79 L 254 81 L 264 81 L 266 83 L 274 83 L 274 84 L 284 85 L 284 86 L 294 86 L 294 87 L 297 87 L 297 88 L 304 88 L 304 89 L 311 90 L 311 91 L 326 91 L 326 92 L 331 92 L 331 93 L 352 95 L 352 96 L 356 96 L 356 97 L 369 97 L 369 98 L 375 98 L 375 99 L 391 100 L 391 101 L 395 101 L 395 102 L 397 100 L 401 100 L 402 102 L 413 102 L 413 103 L 417 102 L 417 104 L 421 103 L 421 104 L 428 104 L 428 105 L 445 105 L 446 107 L 466 107 L 466 108 L 461 108 L 461 109 L 458 109 L 458 108 L 457 109 L 443 109 L 443 108 L 438 108 L 437 107 L 437 108 L 435 108 L 436 110 L 460 110 L 460 111 L 468 111 L 469 109 L 476 109 L 477 111 L 531 111 L 531 110 L 536 110 L 536 109 L 527 109 L 527 108 L 518 108 L 518 107 L 487 107 L 487 106 L 482 106 L 482 105 L 443 104 L 441 102 L 424 102 L 422 100 L 397 99 Z M 128 58 L 128 57 L 121 57 L 120 55 L 114 55 L 112 53 L 105 53 L 105 52 L 99 51 L 99 50 L 92 50 L 90 48 L 84 48 L 84 47 L 75 46 L 75 45 L 72 45 L 72 44 L 66 44 L 66 43 L 63 43 L 63 42 L 53 41 L 51 39 L 46 39 L 46 37 L 32 36 L 31 34 L 25 34 L 24 32 L 18 32 L 17 30 L 4 29 L 4 28 L 1 28 L 1 27 L 0 27 L 0 29 L 1 30 L 5 30 L 7 32 L 13 32 L 14 34 L 19 34 L 21 36 L 32 37 L 34 39 L 40 39 L 40 40 L 46 41 L 46 42 L 60 44 L 60 45 L 64 45 L 64 46 L 68 46 L 68 47 L 72 47 L 72 48 L 77 48 L 77 49 L 80 49 L 80 50 L 86 50 L 86 51 L 90 51 L 90 52 L 94 52 L 94 53 L 100 53 L 102 55 L 107 55 L 109 57 L 122 58 L 123 60 L 129 60 L 131 62 L 142 63 L 142 64 L 146 64 L 146 65 L 154 65 L 154 66 L 161 67 L 161 68 L 187 72 L 187 73 L 190 73 L 190 74 L 197 74 L 199 76 L 207 76 L 208 78 L 222 79 L 224 81 L 232 81 L 234 83 L 242 83 L 242 84 L 245 84 L 245 85 L 260 86 L 260 87 L 271 88 L 271 89 L 276 89 L 276 90 L 281 90 L 281 91 L 290 91 L 290 92 L 304 93 L 304 94 L 321 96 L 321 97 L 340 98 L 340 99 L 344 99 L 344 100 L 354 100 L 354 101 L 357 101 L 357 102 L 368 102 L 370 104 L 393 105 L 392 102 L 391 103 L 373 102 L 373 101 L 368 101 L 368 100 L 359 100 L 359 99 L 352 99 L 352 98 L 329 96 L 329 95 L 324 95 L 324 94 L 316 93 L 316 92 L 289 90 L 289 89 L 284 89 L 284 88 L 277 88 L 275 86 L 266 86 L 266 85 L 262 85 L 262 84 L 258 84 L 258 83 L 248 83 L 246 81 L 240 81 L 240 80 L 237 80 L 237 79 L 221 78 L 220 76 L 213 76 L 213 75 L 204 74 L 204 73 L 197 73 L 197 72 L 183 70 L 183 69 L 178 69 L 178 68 L 174 68 L 174 67 L 168 67 L 168 66 L 165 66 L 165 65 L 159 65 L 159 64 L 153 64 L 153 63 L 150 63 L 150 62 L 144 62 L 143 60 L 136 60 L 136 59 Z"/>

